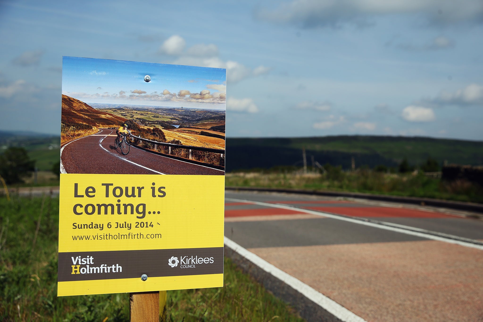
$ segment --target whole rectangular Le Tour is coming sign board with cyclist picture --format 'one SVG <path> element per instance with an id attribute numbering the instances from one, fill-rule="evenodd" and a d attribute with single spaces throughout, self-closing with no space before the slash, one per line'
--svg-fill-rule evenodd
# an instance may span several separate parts
<path id="1" fill-rule="evenodd" d="M 58 295 L 223 286 L 226 70 L 63 57 Z"/>

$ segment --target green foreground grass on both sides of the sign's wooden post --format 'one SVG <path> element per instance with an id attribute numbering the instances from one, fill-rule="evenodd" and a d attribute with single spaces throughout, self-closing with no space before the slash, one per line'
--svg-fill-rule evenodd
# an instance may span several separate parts
<path id="1" fill-rule="evenodd" d="M 128 321 L 126 293 L 57 297 L 58 202 L 0 198 L 0 320 Z M 168 291 L 166 321 L 303 321 L 227 258 L 224 284 Z"/>

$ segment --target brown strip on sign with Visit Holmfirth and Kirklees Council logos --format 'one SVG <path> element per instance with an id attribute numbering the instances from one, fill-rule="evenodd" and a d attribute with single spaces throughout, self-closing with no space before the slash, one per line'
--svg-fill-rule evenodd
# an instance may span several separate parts
<path id="1" fill-rule="evenodd" d="M 59 252 L 58 281 L 223 273 L 223 247 Z"/>

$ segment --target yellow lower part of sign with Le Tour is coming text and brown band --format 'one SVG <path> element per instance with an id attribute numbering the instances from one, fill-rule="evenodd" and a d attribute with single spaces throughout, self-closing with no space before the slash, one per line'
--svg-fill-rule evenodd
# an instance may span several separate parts
<path id="1" fill-rule="evenodd" d="M 61 174 L 58 295 L 222 286 L 224 179 Z"/>

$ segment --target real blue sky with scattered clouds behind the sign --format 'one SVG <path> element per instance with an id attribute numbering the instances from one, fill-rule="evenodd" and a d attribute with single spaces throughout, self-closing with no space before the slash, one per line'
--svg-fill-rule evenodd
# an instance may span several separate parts
<path id="1" fill-rule="evenodd" d="M 482 35 L 481 0 L 0 1 L 0 129 L 58 134 L 78 56 L 227 69 L 227 137 L 482 140 Z"/>

